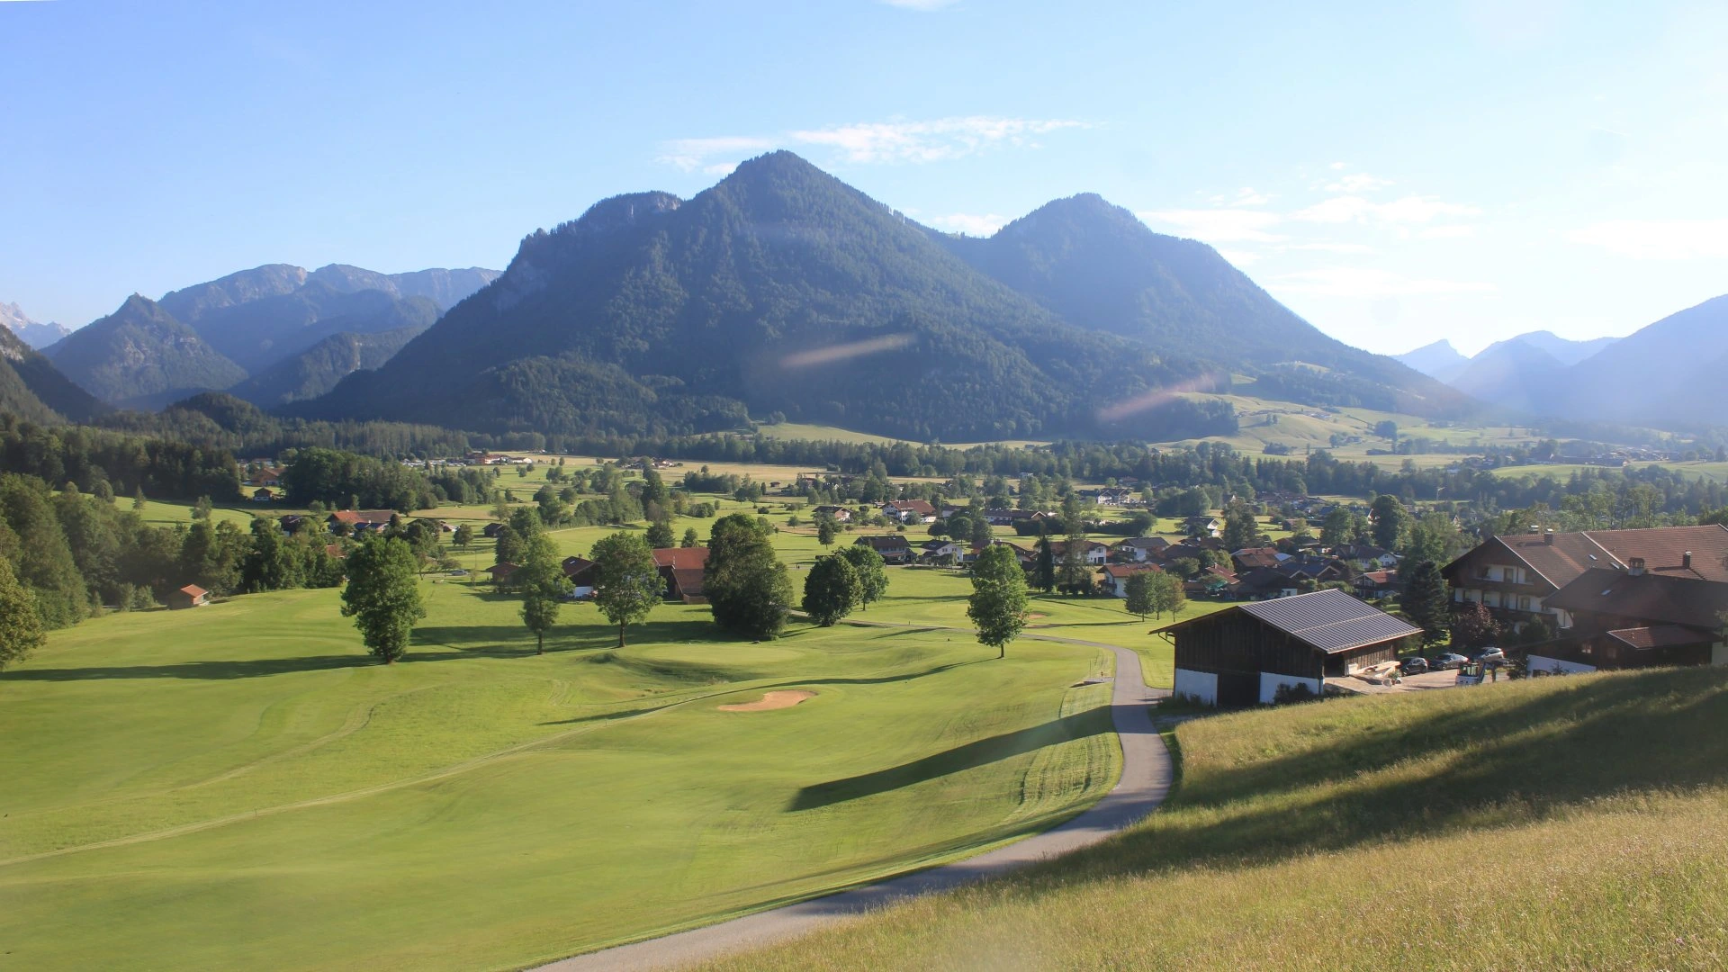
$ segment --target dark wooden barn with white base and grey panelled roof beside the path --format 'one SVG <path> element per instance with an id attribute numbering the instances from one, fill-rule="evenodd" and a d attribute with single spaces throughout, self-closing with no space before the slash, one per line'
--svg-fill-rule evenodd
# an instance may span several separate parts
<path id="1" fill-rule="evenodd" d="M 1239 604 L 1159 628 L 1177 649 L 1177 695 L 1211 706 L 1272 702 L 1280 687 L 1315 695 L 1325 678 L 1398 657 L 1420 635 L 1339 590 Z"/>

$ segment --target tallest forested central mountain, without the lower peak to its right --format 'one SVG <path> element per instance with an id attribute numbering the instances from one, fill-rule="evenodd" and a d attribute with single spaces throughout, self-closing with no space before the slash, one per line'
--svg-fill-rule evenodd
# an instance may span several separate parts
<path id="1" fill-rule="evenodd" d="M 1158 389 L 1217 380 L 1064 322 L 776 152 L 689 202 L 624 195 L 534 233 L 384 368 L 295 408 L 555 434 L 779 412 L 923 439 L 1178 438 L 1234 417 Z"/>

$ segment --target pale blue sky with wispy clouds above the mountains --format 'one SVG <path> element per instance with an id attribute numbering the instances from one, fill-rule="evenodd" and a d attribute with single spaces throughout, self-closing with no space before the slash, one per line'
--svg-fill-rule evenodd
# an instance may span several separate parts
<path id="1" fill-rule="evenodd" d="M 1374 351 L 1728 292 L 1728 5 L 1208 7 L 0 2 L 0 301 L 503 268 L 772 147 L 947 230 L 1099 192 Z"/>

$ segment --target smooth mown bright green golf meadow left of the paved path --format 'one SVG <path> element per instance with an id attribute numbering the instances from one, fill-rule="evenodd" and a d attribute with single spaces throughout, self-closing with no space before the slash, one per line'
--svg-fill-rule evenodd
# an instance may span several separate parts
<path id="1" fill-rule="evenodd" d="M 396 666 L 327 590 L 111 614 L 0 675 L 0 965 L 525 965 L 962 856 L 1116 778 L 1109 687 L 1071 688 L 1096 649 L 715 642 L 665 605 L 613 652 L 575 605 L 534 655 L 513 598 L 425 590 Z M 719 711 L 769 690 L 816 695 Z"/>

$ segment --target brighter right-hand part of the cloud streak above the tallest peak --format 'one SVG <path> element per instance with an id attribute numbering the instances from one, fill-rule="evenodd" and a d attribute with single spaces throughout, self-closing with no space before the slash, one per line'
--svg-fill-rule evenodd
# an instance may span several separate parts
<path id="1" fill-rule="evenodd" d="M 1001 145 L 1037 149 L 1039 135 L 1064 128 L 1087 128 L 1087 125 L 1066 119 L 971 116 L 838 125 L 793 131 L 791 140 L 838 149 L 848 163 L 937 163 Z"/>

